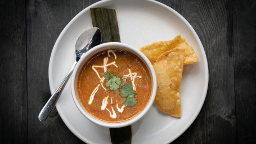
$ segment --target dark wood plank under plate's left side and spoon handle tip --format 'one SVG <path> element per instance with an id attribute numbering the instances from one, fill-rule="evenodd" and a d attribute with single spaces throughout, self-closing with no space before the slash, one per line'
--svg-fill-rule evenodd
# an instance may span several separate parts
<path id="1" fill-rule="evenodd" d="M 57 112 L 46 122 L 38 114 L 51 96 L 48 64 L 57 37 L 68 22 L 92 1 L 27 1 L 28 142 L 82 143 L 69 131 Z"/>

